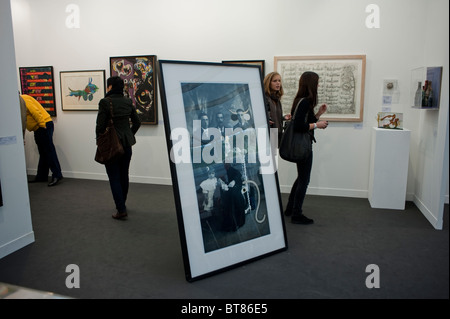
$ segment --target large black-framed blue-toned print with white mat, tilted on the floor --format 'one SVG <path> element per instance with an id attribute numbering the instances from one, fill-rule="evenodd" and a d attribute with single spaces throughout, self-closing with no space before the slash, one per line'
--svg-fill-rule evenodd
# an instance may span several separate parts
<path id="1" fill-rule="evenodd" d="M 287 248 L 258 66 L 159 61 L 186 279 Z"/>

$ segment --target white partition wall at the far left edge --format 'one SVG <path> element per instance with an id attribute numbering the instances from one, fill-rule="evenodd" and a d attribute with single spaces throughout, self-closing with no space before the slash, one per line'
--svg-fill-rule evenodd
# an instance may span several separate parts
<path id="1" fill-rule="evenodd" d="M 0 258 L 34 242 L 9 1 L 0 1 Z"/>

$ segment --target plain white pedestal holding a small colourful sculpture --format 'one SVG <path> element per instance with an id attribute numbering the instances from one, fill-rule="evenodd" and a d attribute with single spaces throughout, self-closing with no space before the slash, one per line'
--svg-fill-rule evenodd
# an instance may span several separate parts
<path id="1" fill-rule="evenodd" d="M 370 206 L 405 209 L 411 131 L 374 127 L 372 133 Z"/>

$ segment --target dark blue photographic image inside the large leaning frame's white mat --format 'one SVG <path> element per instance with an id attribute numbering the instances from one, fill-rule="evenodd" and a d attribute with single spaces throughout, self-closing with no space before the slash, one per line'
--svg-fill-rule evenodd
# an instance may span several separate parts
<path id="1" fill-rule="evenodd" d="M 181 89 L 205 252 L 269 234 L 248 84 Z"/>

